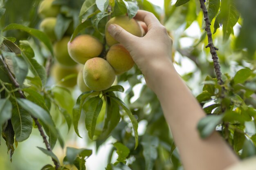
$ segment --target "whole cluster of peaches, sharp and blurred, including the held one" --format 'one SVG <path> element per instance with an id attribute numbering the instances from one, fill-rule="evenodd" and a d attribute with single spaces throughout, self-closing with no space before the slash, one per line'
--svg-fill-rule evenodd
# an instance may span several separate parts
<path id="1" fill-rule="evenodd" d="M 67 35 L 56 41 L 54 28 L 56 15 L 60 7 L 52 4 L 53 0 L 43 0 L 38 8 L 39 15 L 44 18 L 40 29 L 44 31 L 54 42 L 54 56 L 57 63 L 54 64 L 52 73 L 56 82 L 61 85 L 73 87 L 78 84 L 82 92 L 103 91 L 108 89 L 115 81 L 116 75 L 122 74 L 134 65 L 130 53 L 108 33 L 110 24 L 118 24 L 126 31 L 142 36 L 142 28 L 136 20 L 128 19 L 128 16 L 111 18 L 106 24 L 105 38 L 109 49 L 106 56 L 100 56 L 103 44 L 92 35 L 79 35 L 70 41 L 67 36 L 71 29 L 67 29 Z M 64 81 L 67 75 L 78 74 L 76 79 L 70 78 Z"/>

